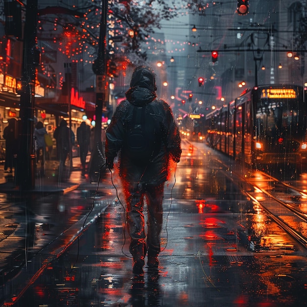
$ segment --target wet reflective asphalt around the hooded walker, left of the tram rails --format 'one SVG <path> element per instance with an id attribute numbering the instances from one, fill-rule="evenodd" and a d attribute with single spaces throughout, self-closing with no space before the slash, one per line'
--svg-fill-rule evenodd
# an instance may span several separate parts
<path id="1" fill-rule="evenodd" d="M 183 149 L 165 190 L 159 273 L 145 268 L 144 283 L 131 281 L 116 174 L 106 172 L 97 191 L 76 171 L 61 188 L 79 185 L 67 193 L 30 201 L 2 193 L 2 216 L 8 213 L 1 229 L 9 225 L 12 247 L 2 240 L 1 254 L 16 253 L 17 275 L 2 275 L 1 306 L 307 306 L 306 249 L 242 193 L 218 159 L 232 162 L 204 144 L 183 141 Z M 17 205 L 8 210 L 12 199 Z M 266 251 L 247 248 L 255 232 Z"/>

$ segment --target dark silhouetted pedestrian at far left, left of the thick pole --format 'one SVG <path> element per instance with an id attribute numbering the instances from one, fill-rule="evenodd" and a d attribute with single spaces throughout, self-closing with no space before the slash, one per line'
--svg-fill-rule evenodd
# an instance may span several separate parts
<path id="1" fill-rule="evenodd" d="M 16 119 L 11 118 L 8 121 L 8 125 L 3 130 L 3 138 L 5 139 L 4 171 L 6 173 L 13 173 L 13 167 L 15 167 L 18 146 L 16 126 Z"/>

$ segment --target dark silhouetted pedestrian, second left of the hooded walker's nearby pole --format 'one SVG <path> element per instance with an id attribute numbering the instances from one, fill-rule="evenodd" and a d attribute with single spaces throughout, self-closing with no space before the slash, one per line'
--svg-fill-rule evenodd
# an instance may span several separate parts
<path id="1" fill-rule="evenodd" d="M 66 120 L 62 119 L 60 125 L 55 128 L 53 137 L 56 140 L 56 156 L 60 163 L 59 169 L 60 171 L 65 171 L 65 162 L 68 153 L 71 152 L 71 146 L 75 143 L 75 134 L 71 128 L 67 127 Z"/>

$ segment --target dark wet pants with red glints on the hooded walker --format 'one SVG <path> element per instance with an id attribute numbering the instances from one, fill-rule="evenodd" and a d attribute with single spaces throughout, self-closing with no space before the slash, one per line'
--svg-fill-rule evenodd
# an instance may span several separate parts
<path id="1" fill-rule="evenodd" d="M 157 256 L 160 252 L 160 232 L 163 222 L 162 201 L 164 183 L 159 185 L 142 185 L 125 182 L 124 193 L 127 204 L 127 224 L 131 238 L 129 251 L 133 260 Z M 144 197 L 147 203 L 147 239 L 144 219 Z"/>

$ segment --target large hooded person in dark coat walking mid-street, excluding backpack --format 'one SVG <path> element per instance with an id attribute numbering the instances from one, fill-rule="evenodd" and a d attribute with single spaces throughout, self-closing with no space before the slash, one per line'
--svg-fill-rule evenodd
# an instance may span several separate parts
<path id="1" fill-rule="evenodd" d="M 106 129 L 106 167 L 113 168 L 119 153 L 119 175 L 127 204 L 127 223 L 130 235 L 129 251 L 133 257 L 134 277 L 144 276 L 143 266 L 158 270 L 160 232 L 162 228 L 162 201 L 164 184 L 169 177 L 170 160 L 179 162 L 180 135 L 170 106 L 156 99 L 155 76 L 150 68 L 137 67 L 132 75 L 126 100 L 116 108 Z M 135 160 L 129 154 L 125 141 L 135 107 L 145 107 L 146 121 L 154 118 L 155 133 L 160 142 L 154 144 L 153 155 L 147 161 Z M 144 230 L 144 197 L 148 208 L 148 232 Z"/>

